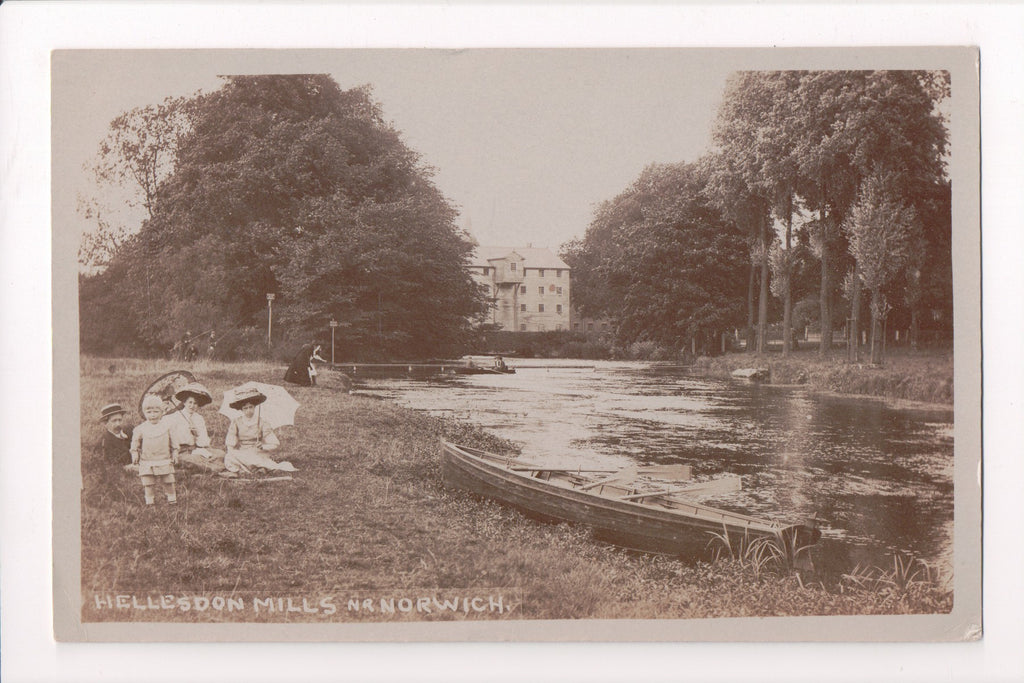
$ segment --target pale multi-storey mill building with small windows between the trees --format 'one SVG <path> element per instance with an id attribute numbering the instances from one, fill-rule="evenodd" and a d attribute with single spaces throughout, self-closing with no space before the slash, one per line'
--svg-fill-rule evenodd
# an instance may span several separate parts
<path id="1" fill-rule="evenodd" d="M 487 288 L 488 323 L 512 332 L 572 329 L 569 266 L 548 249 L 477 247 L 469 269 Z"/>

